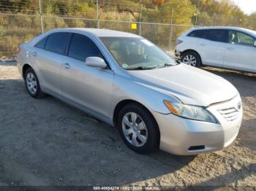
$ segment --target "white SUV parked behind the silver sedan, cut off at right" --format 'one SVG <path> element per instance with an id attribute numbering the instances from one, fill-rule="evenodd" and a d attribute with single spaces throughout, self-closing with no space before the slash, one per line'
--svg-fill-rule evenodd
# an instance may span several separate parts
<path id="1" fill-rule="evenodd" d="M 176 55 L 191 66 L 256 72 L 256 31 L 236 27 L 190 28 L 178 37 Z"/>

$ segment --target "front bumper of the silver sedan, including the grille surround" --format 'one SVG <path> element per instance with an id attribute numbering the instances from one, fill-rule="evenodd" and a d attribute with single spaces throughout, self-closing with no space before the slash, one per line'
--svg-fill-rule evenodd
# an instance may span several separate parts
<path id="1" fill-rule="evenodd" d="M 219 110 L 234 106 L 239 101 L 241 99 L 237 96 L 232 101 L 207 108 L 217 117 L 219 124 L 188 120 L 174 114 L 152 112 L 159 125 L 160 149 L 176 155 L 196 155 L 229 146 L 238 136 L 243 117 L 242 108 L 232 120 L 223 117 Z"/>

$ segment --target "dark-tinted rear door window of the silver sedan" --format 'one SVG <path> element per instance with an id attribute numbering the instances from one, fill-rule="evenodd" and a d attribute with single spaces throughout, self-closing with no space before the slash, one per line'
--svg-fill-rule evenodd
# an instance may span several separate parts
<path id="1" fill-rule="evenodd" d="M 45 44 L 45 50 L 64 55 L 68 37 L 69 33 L 59 32 L 50 34 Z"/>

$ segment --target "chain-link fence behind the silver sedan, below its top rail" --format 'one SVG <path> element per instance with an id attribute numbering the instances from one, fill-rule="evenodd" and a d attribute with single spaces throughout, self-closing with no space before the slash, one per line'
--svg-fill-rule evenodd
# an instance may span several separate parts
<path id="1" fill-rule="evenodd" d="M 42 23 L 40 15 L 20 15 L 0 13 L 0 59 L 7 61 L 15 59 L 18 52 L 18 45 L 33 39 L 53 28 L 105 28 L 117 31 L 126 31 L 138 34 L 151 42 L 154 42 L 164 50 L 170 50 L 175 45 L 176 37 L 184 32 L 185 28 L 164 23 L 143 23 L 125 20 L 97 20 L 80 17 L 59 17 L 53 15 L 43 15 Z M 42 24 L 42 25 L 41 25 Z M 136 29 L 132 29 L 132 24 Z M 172 29 L 173 28 L 173 31 Z"/>

